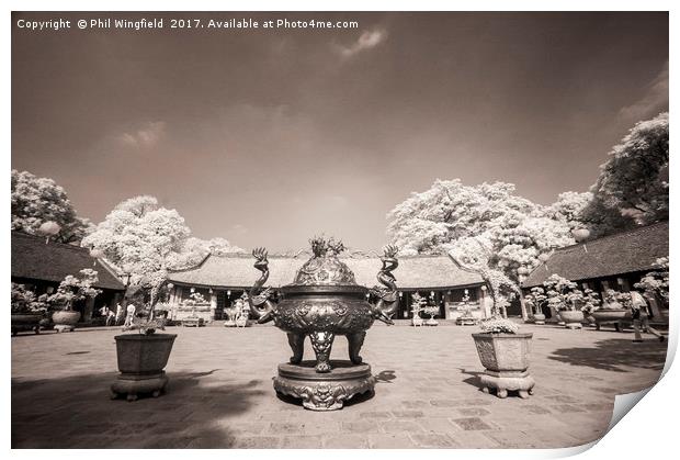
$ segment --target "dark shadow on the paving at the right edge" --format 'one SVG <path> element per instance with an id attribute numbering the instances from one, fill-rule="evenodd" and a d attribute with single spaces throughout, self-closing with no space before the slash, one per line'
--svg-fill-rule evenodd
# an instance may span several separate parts
<path id="1" fill-rule="evenodd" d="M 666 344 L 654 338 L 636 344 L 632 339 L 600 340 L 594 347 L 560 348 L 548 359 L 571 366 L 587 366 L 614 372 L 631 372 L 631 368 L 661 370 L 666 362 Z"/>

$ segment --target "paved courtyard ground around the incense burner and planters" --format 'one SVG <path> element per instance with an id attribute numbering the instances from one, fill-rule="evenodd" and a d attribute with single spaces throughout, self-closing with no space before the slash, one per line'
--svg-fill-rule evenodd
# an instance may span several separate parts
<path id="1" fill-rule="evenodd" d="M 558 448 L 598 438 L 614 395 L 651 385 L 666 344 L 632 333 L 524 325 L 534 333 L 535 394 L 499 400 L 477 386 L 475 327 L 375 326 L 364 360 L 373 397 L 319 413 L 277 399 L 271 377 L 291 351 L 274 327 L 171 327 L 158 399 L 111 401 L 117 329 L 12 338 L 14 448 Z M 307 341 L 306 357 L 313 354 Z M 345 359 L 336 339 L 332 358 Z"/>

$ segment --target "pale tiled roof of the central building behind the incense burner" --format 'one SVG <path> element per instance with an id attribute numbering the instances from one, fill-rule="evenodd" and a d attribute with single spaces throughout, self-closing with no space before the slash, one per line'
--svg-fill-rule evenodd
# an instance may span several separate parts
<path id="1" fill-rule="evenodd" d="M 301 257 L 269 257 L 270 277 L 267 285 L 277 288 L 290 284 L 296 271 L 307 260 Z M 341 258 L 354 272 L 361 285 L 377 284 L 375 276 L 382 267 L 377 257 Z M 191 285 L 247 288 L 260 276 L 252 265 L 252 256 L 227 255 L 208 256 L 196 268 L 171 272 L 170 281 Z M 476 273 L 461 270 L 447 256 L 400 257 L 399 267 L 394 271 L 400 289 L 441 289 L 481 284 Z"/>

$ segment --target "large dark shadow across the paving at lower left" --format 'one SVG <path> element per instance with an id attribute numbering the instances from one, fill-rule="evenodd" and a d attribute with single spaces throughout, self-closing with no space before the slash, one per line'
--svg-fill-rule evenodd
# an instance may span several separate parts
<path id="1" fill-rule="evenodd" d="M 111 400 L 116 372 L 12 379 L 12 448 L 229 448 L 225 418 L 247 412 L 261 381 L 208 385 L 220 371 L 169 372 L 167 395 Z M 226 372 L 226 371 L 225 371 Z"/>

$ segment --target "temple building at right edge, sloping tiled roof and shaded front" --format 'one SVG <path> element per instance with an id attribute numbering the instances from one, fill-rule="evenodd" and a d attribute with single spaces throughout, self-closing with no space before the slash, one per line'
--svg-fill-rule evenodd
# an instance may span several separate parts
<path id="1" fill-rule="evenodd" d="M 556 249 L 522 282 L 522 290 L 529 292 L 556 273 L 600 295 L 608 289 L 628 292 L 656 269 L 657 259 L 668 257 L 668 222 L 660 222 Z M 653 302 L 651 307 L 655 316 L 667 315 L 667 305 Z"/>

